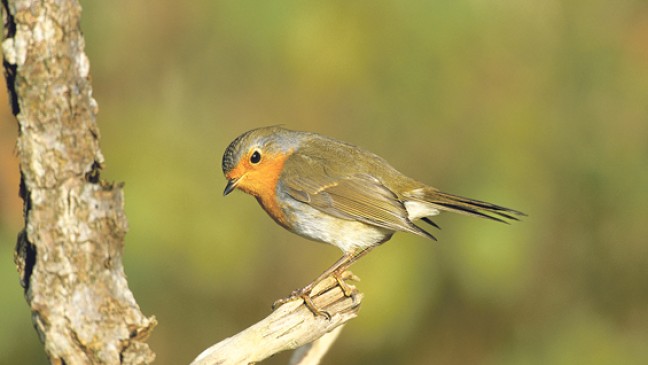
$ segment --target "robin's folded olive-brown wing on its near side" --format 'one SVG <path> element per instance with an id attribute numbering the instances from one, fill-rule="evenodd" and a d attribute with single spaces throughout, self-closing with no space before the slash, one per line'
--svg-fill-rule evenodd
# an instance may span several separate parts
<path id="1" fill-rule="evenodd" d="M 290 168 L 284 171 L 292 173 L 284 174 L 281 183 L 294 199 L 338 218 L 435 239 L 407 218 L 396 194 L 375 177 L 363 172 L 335 174 L 318 158 L 302 155 L 291 156 L 286 164 Z"/>

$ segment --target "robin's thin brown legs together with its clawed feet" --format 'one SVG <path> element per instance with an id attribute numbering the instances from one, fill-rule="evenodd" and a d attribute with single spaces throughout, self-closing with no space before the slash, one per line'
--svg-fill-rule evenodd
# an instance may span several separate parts
<path id="1" fill-rule="evenodd" d="M 310 311 L 313 312 L 313 314 L 315 314 L 316 316 L 324 315 L 325 317 L 330 318 L 329 313 L 320 310 L 313 303 L 313 300 L 310 296 L 313 287 L 315 287 L 315 285 L 317 285 L 319 282 L 326 279 L 327 277 L 332 276 L 333 278 L 335 278 L 335 281 L 337 281 L 337 284 L 340 287 L 340 289 L 342 289 L 342 291 L 344 292 L 344 295 L 347 297 L 352 297 L 353 289 L 344 281 L 342 274 L 359 258 L 366 255 L 372 248 L 373 247 L 368 247 L 359 251 L 345 253 L 331 267 L 326 269 L 323 273 L 321 273 L 317 278 L 315 278 L 315 280 L 311 281 L 308 285 L 306 285 L 301 289 L 297 289 L 293 291 L 292 293 L 290 293 L 290 296 L 287 298 L 283 298 L 275 301 L 274 304 L 272 304 L 272 308 L 275 309 L 285 303 L 293 301 L 297 298 L 301 298 L 304 300 L 304 305 L 306 305 L 306 307 L 308 307 L 308 309 L 310 309 Z"/>

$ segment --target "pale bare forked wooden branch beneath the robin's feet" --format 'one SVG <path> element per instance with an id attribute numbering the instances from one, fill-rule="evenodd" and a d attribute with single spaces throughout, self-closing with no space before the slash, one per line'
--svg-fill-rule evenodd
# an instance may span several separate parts
<path id="1" fill-rule="evenodd" d="M 343 278 L 357 280 L 350 272 L 345 272 Z M 337 281 L 328 277 L 313 288 L 313 304 L 330 318 L 314 315 L 301 299 L 288 302 L 260 322 L 203 351 L 191 365 L 253 364 L 300 346 L 291 363 L 317 364 L 341 326 L 358 314 L 363 295 L 352 285 L 349 287 L 353 294 L 346 296 Z"/>

